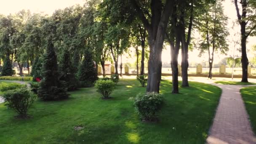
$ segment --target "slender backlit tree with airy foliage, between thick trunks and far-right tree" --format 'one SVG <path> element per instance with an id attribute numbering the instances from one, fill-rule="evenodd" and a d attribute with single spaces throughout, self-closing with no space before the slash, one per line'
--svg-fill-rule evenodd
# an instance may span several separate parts
<path id="1" fill-rule="evenodd" d="M 216 0 L 213 5 L 197 21 L 197 29 L 199 30 L 202 40 L 199 42 L 200 56 L 205 51 L 208 52 L 209 74 L 208 78 L 212 78 L 212 67 L 214 60 L 214 52 L 220 51 L 226 53 L 228 51 L 227 29 L 228 17 L 224 15 L 221 0 Z"/>

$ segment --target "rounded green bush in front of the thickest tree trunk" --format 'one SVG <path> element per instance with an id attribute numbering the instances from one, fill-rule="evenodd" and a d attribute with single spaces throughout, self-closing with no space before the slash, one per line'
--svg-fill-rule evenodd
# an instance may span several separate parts
<path id="1" fill-rule="evenodd" d="M 134 105 L 142 120 L 154 121 L 163 105 L 163 97 L 159 93 L 139 93 L 134 99 Z"/>

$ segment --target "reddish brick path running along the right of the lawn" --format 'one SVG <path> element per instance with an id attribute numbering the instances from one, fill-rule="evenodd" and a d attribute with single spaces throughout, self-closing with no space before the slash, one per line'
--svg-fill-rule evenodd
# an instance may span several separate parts
<path id="1" fill-rule="evenodd" d="M 221 99 L 210 129 L 208 144 L 256 144 L 243 99 L 242 85 L 213 84 L 222 88 Z M 249 86 L 249 85 L 246 85 Z"/>

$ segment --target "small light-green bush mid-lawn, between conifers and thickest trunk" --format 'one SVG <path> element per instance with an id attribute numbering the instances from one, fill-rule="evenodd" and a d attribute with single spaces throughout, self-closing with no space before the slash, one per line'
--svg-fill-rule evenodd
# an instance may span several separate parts
<path id="1" fill-rule="evenodd" d="M 108 99 L 115 88 L 115 83 L 112 80 L 97 80 L 94 85 L 101 94 L 102 99 Z"/>

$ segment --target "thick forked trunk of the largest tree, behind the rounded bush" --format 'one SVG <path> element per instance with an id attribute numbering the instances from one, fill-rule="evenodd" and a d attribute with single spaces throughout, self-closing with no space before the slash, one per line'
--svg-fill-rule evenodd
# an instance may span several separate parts
<path id="1" fill-rule="evenodd" d="M 131 0 L 131 3 L 148 33 L 150 55 L 147 92 L 159 93 L 164 35 L 169 17 L 173 11 L 173 0 L 166 0 L 164 6 L 161 0 L 151 0 L 151 2 Z"/>

